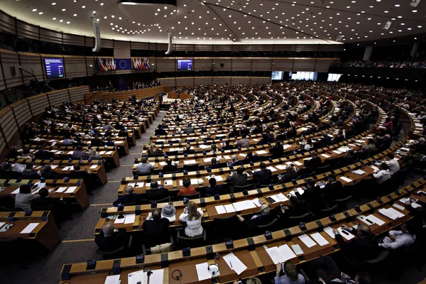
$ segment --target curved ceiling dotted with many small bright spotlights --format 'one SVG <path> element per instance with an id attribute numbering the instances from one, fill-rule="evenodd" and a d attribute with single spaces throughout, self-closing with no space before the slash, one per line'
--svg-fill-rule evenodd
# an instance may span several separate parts
<path id="1" fill-rule="evenodd" d="M 410 0 L 413 1 L 413 0 Z M 178 6 L 118 0 L 1 0 L 22 21 L 65 33 L 174 43 L 342 43 L 426 31 L 426 0 L 178 0 Z M 391 28 L 383 29 L 391 21 Z"/>

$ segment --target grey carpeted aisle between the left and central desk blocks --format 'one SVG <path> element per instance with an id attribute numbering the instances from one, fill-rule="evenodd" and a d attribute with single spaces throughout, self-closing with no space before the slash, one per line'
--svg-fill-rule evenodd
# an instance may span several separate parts
<path id="1" fill-rule="evenodd" d="M 141 156 L 143 145 L 148 143 L 150 136 L 153 136 L 155 128 L 165 113 L 160 111 L 146 133 L 143 133 L 142 137 L 136 141 L 137 145 L 131 148 L 129 155 L 120 158 L 119 168 L 107 171 L 108 182 L 94 190 L 94 196 L 89 196 L 89 207 L 82 212 L 72 213 L 72 220 L 61 224 L 59 230 L 61 241 L 55 249 L 44 256 L 21 256 L 13 264 L 0 266 L 1 284 L 58 284 L 60 271 L 65 263 L 84 262 L 91 259 L 102 260 L 102 256 L 94 253 L 97 249 L 94 243 L 94 227 L 99 221 L 99 210 L 102 206 L 105 207 L 105 204 L 111 205 L 116 200 L 120 186 L 119 180 L 132 175 L 131 166 L 134 158 Z"/>

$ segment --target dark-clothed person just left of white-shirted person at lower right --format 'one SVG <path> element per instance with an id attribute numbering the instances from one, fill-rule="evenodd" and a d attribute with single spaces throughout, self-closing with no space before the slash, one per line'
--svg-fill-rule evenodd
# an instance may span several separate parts
<path id="1" fill-rule="evenodd" d="M 339 230 L 333 229 L 337 244 L 355 266 L 378 256 L 379 250 L 376 236 L 371 233 L 369 226 L 360 224 L 356 229 L 347 226 L 342 226 L 342 229 L 358 236 L 357 239 L 352 241 L 344 241 Z"/>

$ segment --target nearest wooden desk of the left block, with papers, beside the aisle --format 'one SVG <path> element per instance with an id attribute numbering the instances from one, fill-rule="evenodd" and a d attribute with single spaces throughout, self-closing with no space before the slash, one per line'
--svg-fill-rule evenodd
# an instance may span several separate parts
<path id="1" fill-rule="evenodd" d="M 13 217 L 13 222 L 9 221 L 9 217 Z M 49 251 L 58 244 L 59 231 L 50 211 L 34 211 L 30 216 L 26 216 L 26 212 L 0 212 L 0 222 L 5 223 L 1 228 L 14 224 L 9 230 L 0 232 L 1 239 L 35 240 Z M 21 234 L 21 231 L 31 223 L 38 225 L 31 233 Z"/>

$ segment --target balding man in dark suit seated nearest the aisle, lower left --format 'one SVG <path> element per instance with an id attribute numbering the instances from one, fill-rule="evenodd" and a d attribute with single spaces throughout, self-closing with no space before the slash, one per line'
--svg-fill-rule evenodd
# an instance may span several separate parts
<path id="1" fill-rule="evenodd" d="M 107 222 L 102 226 L 102 231 L 94 237 L 94 242 L 101 251 L 114 251 L 127 242 L 126 231 L 114 230 L 114 224 Z"/>

